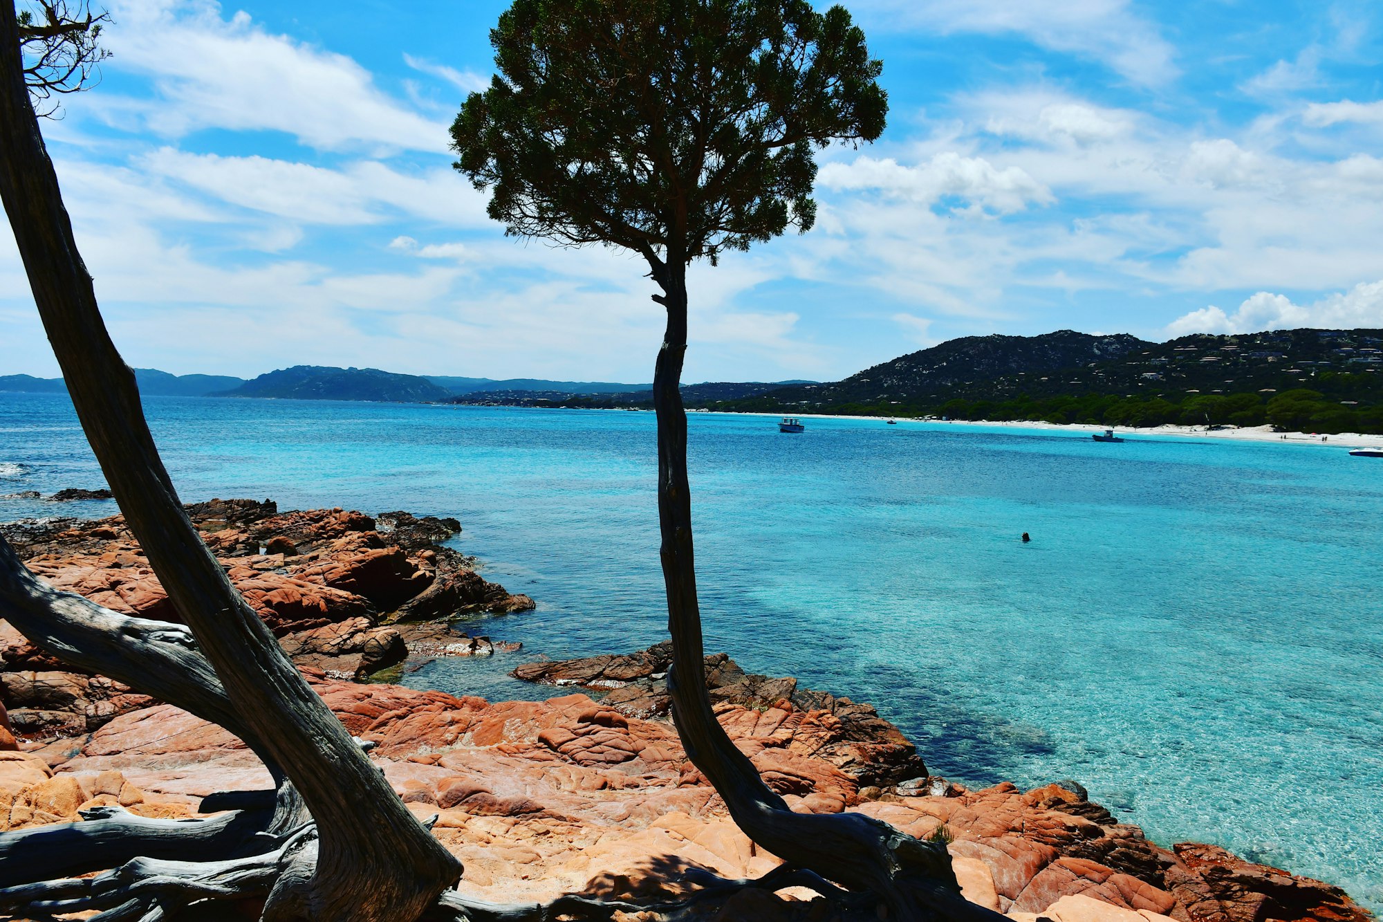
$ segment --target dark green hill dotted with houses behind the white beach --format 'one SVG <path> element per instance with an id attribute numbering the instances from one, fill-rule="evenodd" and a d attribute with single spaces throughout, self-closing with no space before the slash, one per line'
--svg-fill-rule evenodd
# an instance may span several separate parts
<path id="1" fill-rule="evenodd" d="M 1196 334 L 1162 343 L 1070 331 L 971 336 L 835 383 L 708 408 L 1380 432 L 1383 329 Z"/>

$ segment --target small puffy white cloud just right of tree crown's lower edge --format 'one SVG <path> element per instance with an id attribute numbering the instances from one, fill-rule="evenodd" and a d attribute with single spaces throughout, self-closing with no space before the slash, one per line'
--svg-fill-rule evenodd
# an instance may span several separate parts
<path id="1" fill-rule="evenodd" d="M 892 158 L 859 156 L 852 163 L 827 163 L 817 179 L 837 191 L 877 190 L 927 206 L 958 198 L 1000 215 L 1054 201 L 1051 191 L 1022 169 L 999 169 L 983 158 L 954 151 L 936 154 L 917 166 L 903 166 Z"/>

